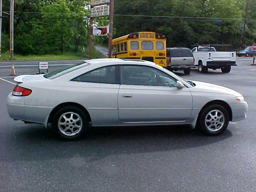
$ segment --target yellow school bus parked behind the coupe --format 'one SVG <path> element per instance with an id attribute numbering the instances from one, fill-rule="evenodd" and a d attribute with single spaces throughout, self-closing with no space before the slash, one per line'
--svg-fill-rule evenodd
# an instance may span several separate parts
<path id="1" fill-rule="evenodd" d="M 166 38 L 155 32 L 136 32 L 113 39 L 112 58 L 147 60 L 166 67 Z"/>

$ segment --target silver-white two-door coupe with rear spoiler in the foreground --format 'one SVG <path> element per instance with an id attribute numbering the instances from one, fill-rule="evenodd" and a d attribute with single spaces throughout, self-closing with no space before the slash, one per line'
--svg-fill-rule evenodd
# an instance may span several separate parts
<path id="1" fill-rule="evenodd" d="M 49 74 L 22 75 L 8 95 L 8 114 L 48 126 L 66 139 L 90 127 L 189 124 L 217 135 L 246 118 L 234 90 L 188 81 L 148 61 L 86 60 Z"/>

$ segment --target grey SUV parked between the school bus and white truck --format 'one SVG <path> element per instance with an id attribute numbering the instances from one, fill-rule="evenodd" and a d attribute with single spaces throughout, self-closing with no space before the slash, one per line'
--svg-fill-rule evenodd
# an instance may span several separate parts
<path id="1" fill-rule="evenodd" d="M 188 48 L 167 48 L 166 60 L 168 70 L 183 70 L 184 74 L 190 74 L 195 61 L 191 50 Z"/>

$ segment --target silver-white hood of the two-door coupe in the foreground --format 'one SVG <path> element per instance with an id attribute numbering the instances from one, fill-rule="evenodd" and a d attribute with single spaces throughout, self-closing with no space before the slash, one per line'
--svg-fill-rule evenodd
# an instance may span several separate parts
<path id="1" fill-rule="evenodd" d="M 226 87 L 222 87 L 219 85 L 215 85 L 215 84 L 210 84 L 210 83 L 205 83 L 205 82 L 200 82 L 200 81 L 192 81 L 196 84 L 196 86 L 194 88 L 196 88 L 198 91 L 202 91 L 202 92 L 214 92 L 214 93 L 220 93 L 220 94 L 227 94 L 227 95 L 232 95 L 232 96 L 242 96 L 242 94 L 226 88 Z"/>

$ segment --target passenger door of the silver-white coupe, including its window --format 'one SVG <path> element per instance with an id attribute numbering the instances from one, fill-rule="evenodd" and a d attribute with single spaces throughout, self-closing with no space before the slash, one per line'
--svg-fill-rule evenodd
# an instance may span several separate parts
<path id="1" fill-rule="evenodd" d="M 192 112 L 189 88 L 150 66 L 122 65 L 118 115 L 122 122 L 183 122 Z"/>

